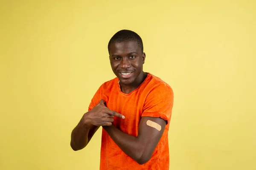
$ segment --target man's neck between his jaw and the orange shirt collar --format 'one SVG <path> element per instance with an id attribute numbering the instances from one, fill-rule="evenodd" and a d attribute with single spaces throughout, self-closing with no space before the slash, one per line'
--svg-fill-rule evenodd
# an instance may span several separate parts
<path id="1" fill-rule="evenodd" d="M 146 74 L 145 72 L 141 72 L 140 75 L 135 79 L 135 81 L 131 84 L 131 85 L 124 85 L 122 83 L 120 83 L 121 86 L 121 91 L 129 94 L 132 91 L 134 91 L 136 88 L 139 87 L 139 85 L 141 85 L 141 83 L 143 83 L 143 81 L 145 80 L 145 78 L 148 76 L 148 74 Z"/>

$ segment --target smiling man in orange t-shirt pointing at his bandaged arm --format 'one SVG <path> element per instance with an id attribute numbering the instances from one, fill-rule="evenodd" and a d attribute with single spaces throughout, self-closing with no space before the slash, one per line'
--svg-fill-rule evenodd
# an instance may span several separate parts
<path id="1" fill-rule="evenodd" d="M 118 31 L 108 52 L 116 78 L 93 96 L 72 132 L 71 147 L 83 149 L 102 126 L 100 170 L 169 170 L 172 88 L 143 71 L 146 56 L 135 32 Z"/>

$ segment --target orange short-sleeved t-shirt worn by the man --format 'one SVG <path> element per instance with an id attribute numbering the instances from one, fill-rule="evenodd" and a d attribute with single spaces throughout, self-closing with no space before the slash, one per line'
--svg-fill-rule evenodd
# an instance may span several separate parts
<path id="1" fill-rule="evenodd" d="M 102 129 L 100 170 L 169 170 L 168 130 L 172 115 L 173 91 L 160 78 L 147 74 L 144 82 L 129 94 L 121 91 L 117 77 L 103 83 L 93 96 L 89 111 L 104 99 L 110 110 L 125 116 L 125 119 L 115 117 L 113 125 L 132 136 L 138 135 L 142 116 L 160 117 L 167 121 L 163 136 L 151 159 L 145 164 L 138 164 Z"/>

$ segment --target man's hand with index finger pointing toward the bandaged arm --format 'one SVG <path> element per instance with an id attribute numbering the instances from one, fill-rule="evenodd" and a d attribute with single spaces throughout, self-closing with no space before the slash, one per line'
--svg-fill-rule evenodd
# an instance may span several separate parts
<path id="1" fill-rule="evenodd" d="M 84 114 L 81 121 L 85 125 L 111 126 L 114 121 L 114 116 L 125 119 L 125 116 L 115 111 L 111 111 L 104 103 L 104 100 L 100 100 L 92 110 Z"/>

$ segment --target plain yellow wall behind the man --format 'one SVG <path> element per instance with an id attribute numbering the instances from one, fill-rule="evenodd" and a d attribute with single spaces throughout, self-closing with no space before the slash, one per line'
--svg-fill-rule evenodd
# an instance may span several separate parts
<path id="1" fill-rule="evenodd" d="M 99 169 L 100 130 L 78 152 L 70 133 L 120 29 L 175 92 L 170 169 L 256 170 L 255 1 L 2 0 L 0 20 L 0 170 Z"/>

